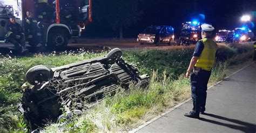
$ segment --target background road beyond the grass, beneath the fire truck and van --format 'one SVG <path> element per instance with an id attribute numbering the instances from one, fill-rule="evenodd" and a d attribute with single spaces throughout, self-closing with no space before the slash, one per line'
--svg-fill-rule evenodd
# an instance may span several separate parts
<path id="1" fill-rule="evenodd" d="M 26 45 L 28 48 L 29 45 Z M 194 45 L 191 45 L 194 46 Z M 89 51 L 100 51 L 100 50 L 109 50 L 113 48 L 120 48 L 122 50 L 129 49 L 172 49 L 172 48 L 181 48 L 183 46 L 168 46 L 167 44 L 160 44 L 159 46 L 144 44 L 140 45 L 134 39 L 125 39 L 125 40 L 114 40 L 114 39 L 79 39 L 78 43 L 72 43 L 71 41 L 68 44 L 68 47 L 64 50 L 77 50 L 83 48 Z M 12 53 L 10 53 L 12 51 Z M 14 45 L 11 43 L 4 43 L 0 41 L 0 53 L 2 54 L 18 54 L 14 48 Z"/>

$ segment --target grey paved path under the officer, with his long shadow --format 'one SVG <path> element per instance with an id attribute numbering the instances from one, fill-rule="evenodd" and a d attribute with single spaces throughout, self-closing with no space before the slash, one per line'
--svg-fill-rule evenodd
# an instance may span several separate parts
<path id="1" fill-rule="evenodd" d="M 256 63 L 208 90 L 200 119 L 183 115 L 191 108 L 190 100 L 137 132 L 256 132 Z"/>

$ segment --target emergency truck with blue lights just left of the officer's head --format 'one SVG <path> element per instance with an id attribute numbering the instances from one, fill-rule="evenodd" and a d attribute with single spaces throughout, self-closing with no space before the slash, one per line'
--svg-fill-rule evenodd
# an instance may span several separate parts
<path id="1" fill-rule="evenodd" d="M 200 23 L 198 21 L 187 21 L 182 24 L 183 27 L 180 33 L 180 43 L 190 45 L 190 43 L 195 44 L 200 38 Z"/>

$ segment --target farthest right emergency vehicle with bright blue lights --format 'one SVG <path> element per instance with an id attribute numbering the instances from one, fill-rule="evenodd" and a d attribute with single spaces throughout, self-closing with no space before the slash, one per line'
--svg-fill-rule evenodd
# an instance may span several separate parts
<path id="1" fill-rule="evenodd" d="M 251 29 L 246 27 L 235 28 L 233 42 L 253 41 L 254 34 Z"/>

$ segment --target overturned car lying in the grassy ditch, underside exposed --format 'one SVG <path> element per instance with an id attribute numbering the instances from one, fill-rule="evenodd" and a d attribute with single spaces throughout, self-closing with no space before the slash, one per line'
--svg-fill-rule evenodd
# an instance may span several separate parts
<path id="1" fill-rule="evenodd" d="M 148 78 L 122 59 L 119 48 L 105 56 L 57 68 L 37 65 L 26 72 L 26 80 L 33 87 L 25 89 L 19 110 L 33 130 L 72 113 L 80 114 L 106 95 L 114 95 L 119 87 L 144 87 Z"/>

